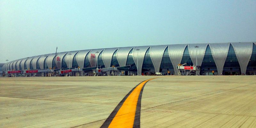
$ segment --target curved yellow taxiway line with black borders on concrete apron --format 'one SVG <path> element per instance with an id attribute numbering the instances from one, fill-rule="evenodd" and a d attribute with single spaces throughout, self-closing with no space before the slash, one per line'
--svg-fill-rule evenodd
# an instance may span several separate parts
<path id="1" fill-rule="evenodd" d="M 155 78 L 152 78 L 155 79 Z M 142 91 L 148 79 L 135 86 L 116 106 L 101 128 L 140 127 L 140 105 Z"/>

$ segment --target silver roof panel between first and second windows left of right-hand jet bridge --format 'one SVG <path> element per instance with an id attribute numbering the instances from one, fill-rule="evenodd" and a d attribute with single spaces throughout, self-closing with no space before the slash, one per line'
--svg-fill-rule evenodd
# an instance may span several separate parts
<path id="1" fill-rule="evenodd" d="M 159 72 L 160 70 L 160 65 L 164 55 L 164 50 L 167 48 L 167 46 L 168 45 L 156 45 L 156 46 L 151 46 L 150 48 L 150 53 L 151 53 L 150 57 L 156 72 Z"/>

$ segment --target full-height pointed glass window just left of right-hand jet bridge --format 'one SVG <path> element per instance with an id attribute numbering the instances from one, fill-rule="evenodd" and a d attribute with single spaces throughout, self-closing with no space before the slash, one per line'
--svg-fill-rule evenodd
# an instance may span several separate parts
<path id="1" fill-rule="evenodd" d="M 166 49 L 164 50 L 164 55 L 161 61 L 161 65 L 160 65 L 160 72 L 164 73 L 164 74 L 168 74 L 168 75 L 174 75 L 174 68 L 172 66 L 172 62 L 170 60 L 169 57 L 169 52 L 168 52 L 168 47 L 166 47 Z"/>

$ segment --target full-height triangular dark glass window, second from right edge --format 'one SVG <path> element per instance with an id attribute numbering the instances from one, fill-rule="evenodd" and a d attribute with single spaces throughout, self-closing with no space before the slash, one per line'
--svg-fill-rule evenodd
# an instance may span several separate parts
<path id="1" fill-rule="evenodd" d="M 225 61 L 222 75 L 236 75 L 241 74 L 240 65 L 236 58 L 236 53 L 233 46 L 230 44 L 228 49 L 228 56 Z"/>

